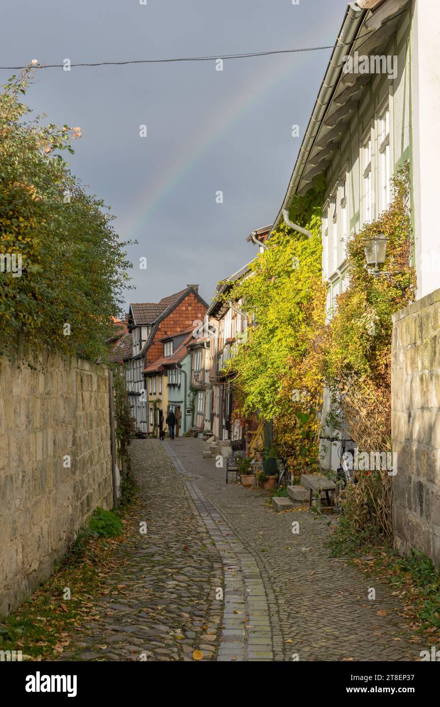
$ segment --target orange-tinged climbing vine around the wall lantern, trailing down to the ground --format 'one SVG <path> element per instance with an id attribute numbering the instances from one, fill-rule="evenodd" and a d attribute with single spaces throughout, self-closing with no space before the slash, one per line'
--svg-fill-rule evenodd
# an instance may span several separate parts
<path id="1" fill-rule="evenodd" d="M 409 208 L 410 165 L 392 180 L 393 201 L 347 245 L 350 286 L 337 300 L 337 311 L 323 340 L 322 358 L 333 404 L 343 412 L 350 436 L 365 452 L 391 451 L 392 315 L 415 298 L 410 265 L 412 233 Z M 365 264 L 364 247 L 374 235 L 388 238 L 386 263 L 375 277 Z M 345 491 L 338 547 L 391 542 L 391 477 L 386 469 L 356 472 L 357 484 Z"/>

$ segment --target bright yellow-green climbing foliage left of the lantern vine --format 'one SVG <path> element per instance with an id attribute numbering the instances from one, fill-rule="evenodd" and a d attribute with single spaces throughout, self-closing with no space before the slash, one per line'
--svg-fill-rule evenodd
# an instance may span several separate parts
<path id="1" fill-rule="evenodd" d="M 321 275 L 321 201 L 318 180 L 295 197 L 290 218 L 311 238 L 280 224 L 266 250 L 251 263 L 227 300 L 242 299 L 255 327 L 227 363 L 245 414 L 273 419 L 275 445 L 294 473 L 316 468 L 318 411 L 323 377 L 318 358 L 325 323 L 326 287 Z"/>

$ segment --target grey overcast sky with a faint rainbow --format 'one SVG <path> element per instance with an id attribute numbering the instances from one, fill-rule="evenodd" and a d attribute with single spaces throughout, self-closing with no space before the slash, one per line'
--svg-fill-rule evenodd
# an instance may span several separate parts
<path id="1" fill-rule="evenodd" d="M 1 0 L 0 66 L 333 45 L 346 0 Z M 126 301 L 186 284 L 210 300 L 278 214 L 329 50 L 215 62 L 44 69 L 26 103 L 81 126 L 73 173 L 129 247 Z M 11 71 L 0 71 L 1 83 Z M 147 126 L 147 137 L 139 135 Z M 299 125 L 301 138 L 292 137 Z M 216 192 L 223 203 L 216 203 Z M 148 269 L 139 259 L 148 259 Z"/>

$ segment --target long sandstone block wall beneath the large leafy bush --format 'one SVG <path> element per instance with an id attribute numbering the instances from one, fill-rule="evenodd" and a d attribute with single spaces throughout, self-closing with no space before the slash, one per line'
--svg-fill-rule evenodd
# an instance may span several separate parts
<path id="1" fill-rule="evenodd" d="M 45 353 L 37 370 L 0 358 L 0 615 L 54 571 L 96 506 L 112 507 L 108 385 L 79 358 Z"/>

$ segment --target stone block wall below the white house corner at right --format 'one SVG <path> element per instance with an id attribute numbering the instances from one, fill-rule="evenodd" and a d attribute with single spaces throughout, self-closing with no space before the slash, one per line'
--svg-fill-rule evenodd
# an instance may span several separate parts
<path id="1" fill-rule="evenodd" d="M 392 438 L 396 549 L 440 563 L 440 290 L 393 317 Z"/>

